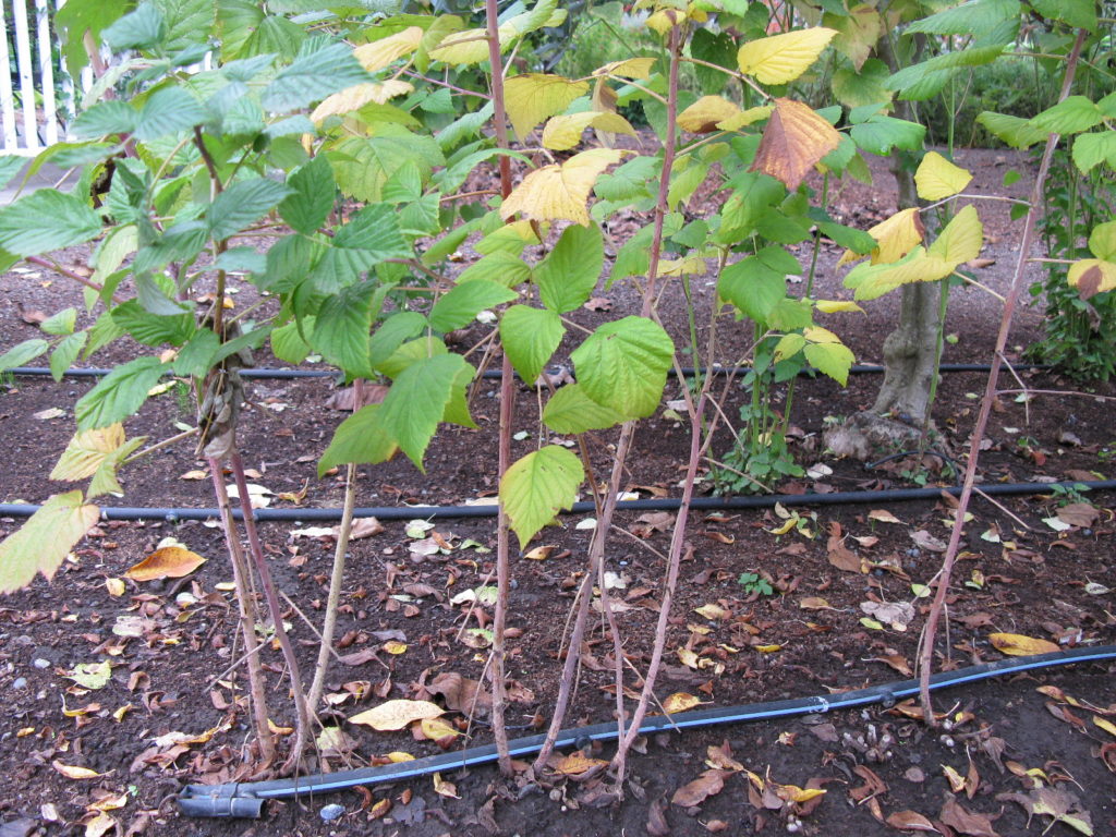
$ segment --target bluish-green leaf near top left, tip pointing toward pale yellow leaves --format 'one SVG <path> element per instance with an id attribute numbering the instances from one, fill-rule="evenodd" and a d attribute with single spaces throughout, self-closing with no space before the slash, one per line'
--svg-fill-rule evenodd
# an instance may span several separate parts
<path id="1" fill-rule="evenodd" d="M 263 90 L 263 107 L 285 113 L 306 107 L 331 93 L 371 81 L 353 50 L 326 36 L 305 40 L 298 56 Z"/>

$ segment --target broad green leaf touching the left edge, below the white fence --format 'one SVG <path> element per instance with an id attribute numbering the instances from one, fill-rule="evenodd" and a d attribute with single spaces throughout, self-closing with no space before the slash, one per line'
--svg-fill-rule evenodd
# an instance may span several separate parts
<path id="1" fill-rule="evenodd" d="M 0 209 L 0 247 L 16 256 L 80 244 L 100 230 L 100 217 L 85 202 L 52 189 L 40 189 Z"/>

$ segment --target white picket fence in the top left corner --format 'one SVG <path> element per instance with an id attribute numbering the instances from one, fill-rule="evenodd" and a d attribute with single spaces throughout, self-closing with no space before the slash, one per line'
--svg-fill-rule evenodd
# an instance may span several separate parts
<path id="1" fill-rule="evenodd" d="M 4 35 L 0 38 L 2 154 L 33 156 L 65 138 L 64 124 L 74 109 L 74 81 L 52 25 L 64 2 L 0 0 Z M 83 80 L 88 84 L 92 79 Z"/>

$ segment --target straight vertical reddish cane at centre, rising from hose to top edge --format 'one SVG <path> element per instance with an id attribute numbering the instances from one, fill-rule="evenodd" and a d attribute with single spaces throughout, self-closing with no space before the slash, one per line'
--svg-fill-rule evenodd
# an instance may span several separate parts
<path id="1" fill-rule="evenodd" d="M 508 115 L 503 97 L 503 62 L 500 58 L 499 10 L 497 0 L 484 0 L 484 20 L 491 65 L 492 119 L 496 125 L 497 147 L 508 148 Z M 511 160 L 500 155 L 500 193 L 507 199 L 511 194 Z M 511 433 L 514 421 L 516 389 L 511 360 L 503 353 L 500 377 L 500 441 L 499 479 L 502 481 L 511 464 Z M 511 533 L 508 529 L 508 513 L 501 500 L 497 518 L 496 586 L 497 603 L 492 614 L 492 737 L 499 753 L 500 772 L 512 776 L 511 754 L 508 750 L 508 728 L 504 721 L 508 705 L 504 682 L 504 658 L 507 656 L 508 596 L 511 587 L 510 552 Z"/>

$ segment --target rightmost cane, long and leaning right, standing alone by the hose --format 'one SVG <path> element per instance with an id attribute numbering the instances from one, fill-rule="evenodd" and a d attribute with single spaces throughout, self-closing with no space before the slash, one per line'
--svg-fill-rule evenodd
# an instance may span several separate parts
<path id="1" fill-rule="evenodd" d="M 1081 54 L 1081 46 L 1085 44 L 1086 31 L 1078 30 L 1077 40 L 1069 52 L 1066 62 L 1066 75 L 1062 79 L 1061 95 L 1059 102 L 1064 102 L 1074 85 L 1074 75 L 1077 70 L 1078 57 Z M 1042 201 L 1042 187 L 1046 183 L 1047 173 L 1050 171 L 1050 160 L 1054 157 L 1054 150 L 1058 145 L 1058 134 L 1050 134 L 1047 138 L 1046 148 L 1042 152 L 1042 161 L 1039 164 L 1035 184 L 1031 187 L 1031 208 L 1027 212 L 1023 221 L 1022 238 L 1019 243 L 1019 258 L 1016 260 L 1016 272 L 1011 278 L 1011 288 L 1003 302 L 1003 315 L 1000 318 L 1000 331 L 995 339 L 995 352 L 992 355 L 992 368 L 988 375 L 988 384 L 984 387 L 984 397 L 981 398 L 980 412 L 977 415 L 977 425 L 973 427 L 969 440 L 969 462 L 965 464 L 965 478 L 961 488 L 961 497 L 958 499 L 958 508 L 954 511 L 953 530 L 950 532 L 950 542 L 945 548 L 942 558 L 942 569 L 937 578 L 937 588 L 934 591 L 934 602 L 931 605 L 930 614 L 926 616 L 926 626 L 923 629 L 922 647 L 918 658 L 918 687 L 922 703 L 923 720 L 931 727 L 935 725 L 933 704 L 930 699 L 930 675 L 934 665 L 934 638 L 937 633 L 937 623 L 945 610 L 945 597 L 950 588 L 950 577 L 953 573 L 953 565 L 958 558 L 958 550 L 961 547 L 961 535 L 965 525 L 965 511 L 969 509 L 969 501 L 973 494 L 973 483 L 977 479 L 977 463 L 980 459 L 980 443 L 984 439 L 988 427 L 989 415 L 992 412 L 992 404 L 995 401 L 995 393 L 1000 377 L 1000 366 L 1003 362 L 1003 352 L 1008 345 L 1008 335 L 1011 331 L 1011 321 L 1016 312 L 1016 304 L 1023 287 L 1023 276 L 1027 268 L 1027 254 L 1030 252 L 1035 241 L 1036 208 Z"/>

